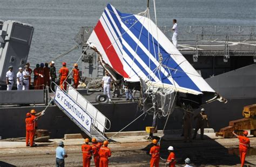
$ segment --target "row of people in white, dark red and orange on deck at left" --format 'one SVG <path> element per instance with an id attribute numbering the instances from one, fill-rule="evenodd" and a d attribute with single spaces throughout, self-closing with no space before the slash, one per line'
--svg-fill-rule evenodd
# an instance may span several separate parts
<path id="1" fill-rule="evenodd" d="M 69 69 L 66 68 L 66 63 L 62 63 L 62 68 L 59 69 L 59 80 L 60 80 L 60 88 L 66 90 L 66 82 L 64 82 L 69 76 Z M 48 67 L 48 63 L 36 64 L 36 68 L 32 70 L 30 68 L 30 63 L 26 63 L 24 68 L 20 67 L 18 69 L 16 78 L 17 78 L 17 90 L 29 90 L 32 88 L 31 84 L 31 75 L 33 72 L 33 89 L 45 89 L 46 86 L 51 86 L 51 89 L 55 91 L 55 85 L 51 84 L 55 83 L 57 78 L 55 62 L 51 61 L 50 67 Z M 79 84 L 79 69 L 78 64 L 74 64 L 74 68 L 72 69 L 72 77 L 74 81 L 74 88 L 77 88 Z M 15 83 L 15 75 L 13 72 L 13 67 L 10 66 L 9 70 L 6 72 L 6 90 L 12 90 L 12 87 Z"/>

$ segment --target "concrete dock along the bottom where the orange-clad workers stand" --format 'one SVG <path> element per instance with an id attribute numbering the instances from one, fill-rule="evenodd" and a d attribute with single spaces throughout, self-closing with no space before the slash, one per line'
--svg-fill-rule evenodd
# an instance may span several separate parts
<path id="1" fill-rule="evenodd" d="M 109 134 L 109 136 L 113 135 Z M 130 136 L 129 136 L 130 135 Z M 161 136 L 161 132 L 156 134 Z M 199 137 L 199 136 L 198 136 Z M 164 135 L 161 139 L 160 156 L 166 159 L 167 148 L 174 147 L 177 166 L 184 166 L 184 159 L 191 158 L 194 166 L 240 166 L 238 139 L 223 139 L 215 137 L 215 133 L 205 133 L 205 140 L 193 140 L 183 142 L 179 133 Z M 112 157 L 109 159 L 110 166 L 149 166 L 149 150 L 151 142 L 146 140 L 147 135 L 143 132 L 125 132 L 125 134 L 113 137 L 109 148 Z M 38 147 L 25 147 L 25 142 L 0 141 L 0 166 L 54 166 L 55 149 L 58 141 L 51 139 L 47 143 L 37 143 Z M 247 166 L 256 166 L 256 137 L 250 137 L 251 149 L 246 157 Z M 63 140 L 68 158 L 66 166 L 82 166 L 82 153 L 80 150 L 83 139 Z M 91 165 L 94 163 L 91 161 Z M 165 166 L 160 161 L 160 166 Z"/>

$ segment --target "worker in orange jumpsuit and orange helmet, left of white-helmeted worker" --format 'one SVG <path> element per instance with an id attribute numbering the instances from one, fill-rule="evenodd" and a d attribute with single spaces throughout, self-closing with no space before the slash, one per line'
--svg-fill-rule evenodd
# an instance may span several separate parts
<path id="1" fill-rule="evenodd" d="M 151 155 L 151 160 L 150 160 L 150 167 L 159 166 L 159 159 L 160 159 L 160 146 L 158 145 L 158 141 L 154 139 L 152 141 L 153 147 L 150 149 L 150 155 Z"/>

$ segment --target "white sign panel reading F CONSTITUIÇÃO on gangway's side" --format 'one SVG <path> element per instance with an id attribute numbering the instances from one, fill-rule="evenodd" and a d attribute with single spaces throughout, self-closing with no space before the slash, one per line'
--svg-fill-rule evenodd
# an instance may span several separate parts
<path id="1" fill-rule="evenodd" d="M 80 126 L 84 127 L 88 132 L 91 132 L 92 118 L 59 88 L 56 90 L 54 100 L 70 117 L 75 119 Z"/>

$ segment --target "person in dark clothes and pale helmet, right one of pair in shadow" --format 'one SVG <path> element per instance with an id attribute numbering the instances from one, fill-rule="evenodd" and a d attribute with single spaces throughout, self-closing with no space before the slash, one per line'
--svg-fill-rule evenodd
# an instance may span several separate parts
<path id="1" fill-rule="evenodd" d="M 194 117 L 194 119 L 197 119 L 197 125 L 196 125 L 196 129 L 194 129 L 193 139 L 196 139 L 197 132 L 200 129 L 201 140 L 203 140 L 204 139 L 204 126 L 205 126 L 205 122 L 207 124 L 207 128 L 209 127 L 208 118 L 207 118 L 207 115 L 205 114 L 205 108 L 202 108 L 200 113 L 198 113 L 196 115 L 196 117 Z"/>

